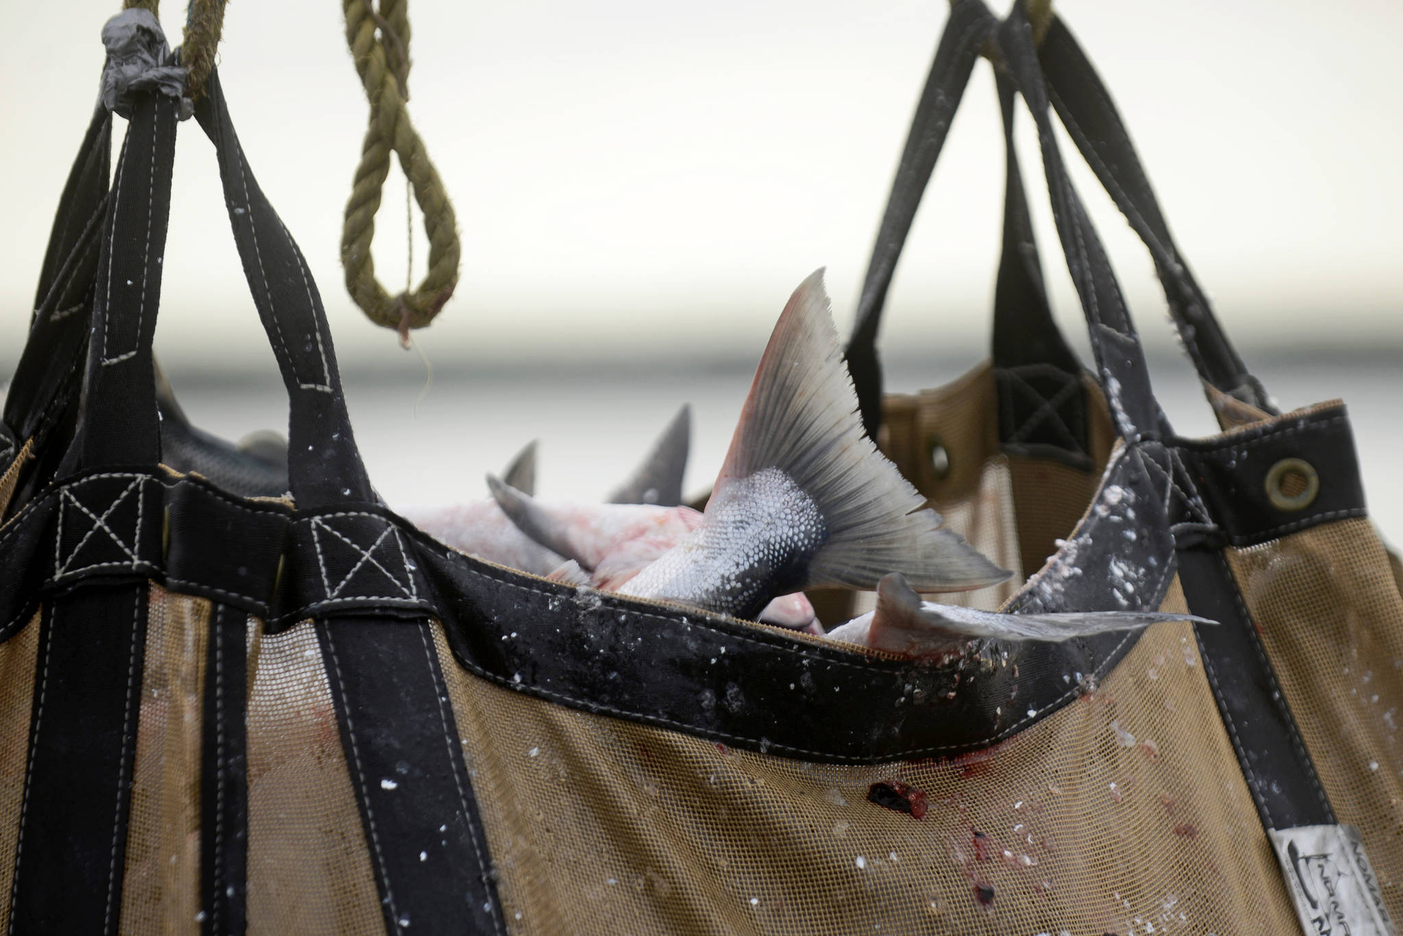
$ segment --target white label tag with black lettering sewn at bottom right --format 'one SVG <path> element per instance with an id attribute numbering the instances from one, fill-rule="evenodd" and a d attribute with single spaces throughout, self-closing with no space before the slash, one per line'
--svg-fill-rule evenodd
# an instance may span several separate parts
<path id="1" fill-rule="evenodd" d="M 1308 936 L 1397 936 L 1360 829 L 1267 829 Z"/>

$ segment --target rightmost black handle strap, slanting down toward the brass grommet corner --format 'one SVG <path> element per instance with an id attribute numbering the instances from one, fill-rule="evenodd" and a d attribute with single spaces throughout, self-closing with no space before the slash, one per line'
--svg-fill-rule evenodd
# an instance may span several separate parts
<path id="1" fill-rule="evenodd" d="M 1200 376 L 1218 390 L 1275 413 L 1261 383 L 1214 316 L 1208 296 L 1183 261 L 1159 199 L 1106 84 L 1056 17 L 1038 46 L 1048 98 L 1101 185 L 1155 261 L 1169 312 Z"/>

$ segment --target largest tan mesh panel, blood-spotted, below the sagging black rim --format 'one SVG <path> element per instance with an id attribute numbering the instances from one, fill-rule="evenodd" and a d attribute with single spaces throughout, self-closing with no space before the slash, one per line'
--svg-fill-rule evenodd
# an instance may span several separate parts
<path id="1" fill-rule="evenodd" d="M 1183 610 L 1176 585 L 1166 609 Z M 438 633 L 438 631 L 436 631 Z M 1289 933 L 1188 624 L 984 752 L 828 766 L 466 675 L 438 647 L 513 933 Z M 867 801 L 926 796 L 923 818 Z"/>

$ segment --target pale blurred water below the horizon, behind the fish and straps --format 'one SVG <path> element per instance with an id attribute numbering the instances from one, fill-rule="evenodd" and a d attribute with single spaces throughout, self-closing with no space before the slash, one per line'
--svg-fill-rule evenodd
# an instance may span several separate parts
<path id="1" fill-rule="evenodd" d="M 749 361 L 692 368 L 640 362 L 634 369 L 459 373 L 435 376 L 427 389 L 422 368 L 417 375 L 352 370 L 345 375 L 347 399 L 366 467 L 391 505 L 485 497 L 484 473 L 501 474 L 533 438 L 540 439 L 539 494 L 599 500 L 623 481 L 682 403 L 693 407 L 686 490 L 700 493 L 721 467 L 759 351 Z M 888 389 L 939 386 L 975 361 L 897 355 L 887 362 Z M 1155 363 L 1156 392 L 1174 428 L 1184 435 L 1216 431 L 1187 358 L 1156 355 Z M 1282 407 L 1345 400 L 1371 512 L 1389 542 L 1403 542 L 1403 368 L 1397 356 L 1288 356 L 1250 363 Z M 212 380 L 182 370 L 173 382 L 187 414 L 226 438 L 286 424 L 279 383 Z"/>

